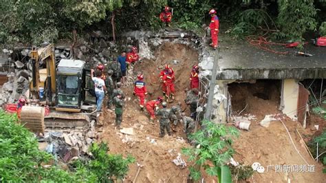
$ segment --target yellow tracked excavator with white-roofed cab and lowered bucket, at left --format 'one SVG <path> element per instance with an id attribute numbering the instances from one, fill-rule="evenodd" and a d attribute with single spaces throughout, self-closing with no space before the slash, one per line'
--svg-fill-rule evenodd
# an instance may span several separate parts
<path id="1" fill-rule="evenodd" d="M 21 121 L 32 131 L 50 128 L 87 129 L 98 122 L 94 83 L 85 61 L 56 63 L 52 44 L 31 52 L 30 105 L 21 109 Z"/>

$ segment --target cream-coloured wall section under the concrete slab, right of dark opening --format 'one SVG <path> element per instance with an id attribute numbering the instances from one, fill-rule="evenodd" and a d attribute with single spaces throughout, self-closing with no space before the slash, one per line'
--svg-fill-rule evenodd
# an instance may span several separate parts
<path id="1" fill-rule="evenodd" d="M 281 106 L 283 114 L 286 114 L 292 120 L 297 120 L 298 108 L 298 82 L 294 79 L 282 80 Z"/>

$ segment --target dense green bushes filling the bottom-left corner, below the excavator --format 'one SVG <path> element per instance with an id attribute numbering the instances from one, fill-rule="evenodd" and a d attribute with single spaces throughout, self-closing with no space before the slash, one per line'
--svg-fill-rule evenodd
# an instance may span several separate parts
<path id="1" fill-rule="evenodd" d="M 133 162 L 108 154 L 107 144 L 93 144 L 93 159 L 65 171 L 52 155 L 39 150 L 34 134 L 17 124 L 16 115 L 0 111 L 0 129 L 0 182 L 113 182 L 126 175 Z"/>

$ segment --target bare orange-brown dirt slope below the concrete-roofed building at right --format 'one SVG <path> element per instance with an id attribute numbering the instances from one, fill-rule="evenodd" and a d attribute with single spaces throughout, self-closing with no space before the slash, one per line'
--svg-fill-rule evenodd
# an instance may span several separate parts
<path id="1" fill-rule="evenodd" d="M 312 160 L 296 133 L 296 129 L 304 131 L 302 126 L 291 120 L 283 120 L 283 122 L 303 158 L 307 160 L 308 164 L 314 165 L 314 172 L 292 171 L 293 166 L 304 165 L 305 162 L 294 149 L 280 121 L 271 122 L 267 128 L 253 123 L 250 126 L 250 131 L 241 131 L 241 136 L 235 140 L 234 144 L 237 152 L 234 155 L 235 160 L 249 166 L 254 162 L 259 162 L 265 168 L 264 173 L 254 173 L 250 182 L 287 182 L 287 177 L 291 182 L 325 182 L 326 175 L 322 173 L 323 166 Z M 275 166 L 281 166 L 281 171 L 275 169 Z M 290 166 L 290 173 L 285 173 L 283 166 Z"/>

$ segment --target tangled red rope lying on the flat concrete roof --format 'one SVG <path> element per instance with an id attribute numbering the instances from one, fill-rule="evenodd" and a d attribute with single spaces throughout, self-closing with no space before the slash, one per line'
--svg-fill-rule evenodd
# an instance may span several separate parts
<path id="1" fill-rule="evenodd" d="M 250 43 L 250 45 L 258 47 L 258 48 L 260 48 L 262 50 L 266 50 L 266 51 L 272 52 L 274 54 L 289 54 L 289 52 L 279 52 L 279 51 L 276 51 L 276 50 L 272 50 L 272 48 L 270 47 L 270 45 L 282 45 L 282 46 L 285 46 L 285 45 L 287 45 L 286 43 L 270 42 L 263 36 L 247 36 L 246 39 Z"/>

